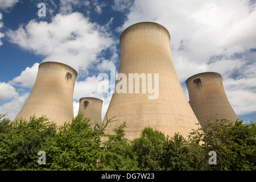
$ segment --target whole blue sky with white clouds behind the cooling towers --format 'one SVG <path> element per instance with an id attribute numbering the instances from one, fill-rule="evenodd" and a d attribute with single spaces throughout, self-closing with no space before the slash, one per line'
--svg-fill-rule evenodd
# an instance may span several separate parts
<path id="1" fill-rule="evenodd" d="M 39 3 L 46 16 L 38 16 Z M 104 101 L 100 73 L 119 69 L 119 36 L 138 22 L 162 24 L 171 35 L 174 67 L 188 98 L 185 80 L 218 72 L 230 104 L 246 123 L 256 116 L 255 0 L 0 0 L 0 113 L 15 118 L 44 61 L 68 64 L 79 72 L 74 113 L 81 97 Z"/>

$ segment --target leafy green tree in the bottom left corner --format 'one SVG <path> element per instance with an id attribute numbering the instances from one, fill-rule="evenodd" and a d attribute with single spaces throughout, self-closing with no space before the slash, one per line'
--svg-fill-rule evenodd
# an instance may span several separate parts
<path id="1" fill-rule="evenodd" d="M 0 169 L 27 170 L 37 165 L 38 152 L 46 138 L 56 133 L 56 125 L 47 118 L 35 116 L 30 121 L 22 119 L 1 121 Z M 9 123 L 6 125 L 6 123 Z"/>

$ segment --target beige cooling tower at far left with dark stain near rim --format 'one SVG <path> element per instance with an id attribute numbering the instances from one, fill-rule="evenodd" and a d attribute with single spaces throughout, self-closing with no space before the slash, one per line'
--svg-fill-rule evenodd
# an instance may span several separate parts
<path id="1" fill-rule="evenodd" d="M 39 65 L 34 87 L 27 98 L 18 118 L 30 119 L 30 116 L 46 115 L 57 125 L 73 118 L 73 90 L 77 72 L 68 65 L 56 62 L 44 62 Z"/>

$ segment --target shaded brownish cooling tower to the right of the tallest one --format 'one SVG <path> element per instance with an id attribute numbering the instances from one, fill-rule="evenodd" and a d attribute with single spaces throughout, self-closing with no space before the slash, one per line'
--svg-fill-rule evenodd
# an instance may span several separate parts
<path id="1" fill-rule="evenodd" d="M 202 127 L 209 117 L 235 122 L 238 117 L 229 103 L 219 73 L 206 72 L 186 81 L 189 103 Z"/>

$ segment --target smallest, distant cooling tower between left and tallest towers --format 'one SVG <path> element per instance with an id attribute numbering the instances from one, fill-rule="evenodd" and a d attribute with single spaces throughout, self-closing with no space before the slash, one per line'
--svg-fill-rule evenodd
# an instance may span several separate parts
<path id="1" fill-rule="evenodd" d="M 90 123 L 101 123 L 101 109 L 103 101 L 99 98 L 84 97 L 79 101 L 79 113 L 84 114 L 84 117 L 90 118 Z"/>

